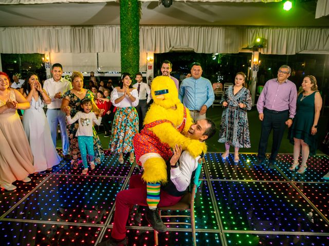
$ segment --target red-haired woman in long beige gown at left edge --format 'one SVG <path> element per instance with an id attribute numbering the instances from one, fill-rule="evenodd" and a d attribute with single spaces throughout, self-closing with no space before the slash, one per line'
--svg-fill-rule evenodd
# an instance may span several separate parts
<path id="1" fill-rule="evenodd" d="M 16 189 L 12 182 L 30 182 L 34 172 L 33 155 L 17 109 L 30 108 L 29 102 L 17 90 L 9 87 L 10 79 L 0 72 L 0 186 Z"/>

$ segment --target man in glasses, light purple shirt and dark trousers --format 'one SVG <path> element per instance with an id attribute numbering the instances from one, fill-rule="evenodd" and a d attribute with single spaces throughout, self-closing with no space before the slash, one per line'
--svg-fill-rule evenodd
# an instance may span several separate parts
<path id="1" fill-rule="evenodd" d="M 291 69 L 282 65 L 278 77 L 266 82 L 257 101 L 259 119 L 262 120 L 261 139 L 258 147 L 258 162 L 261 166 L 266 158 L 267 141 L 273 129 L 273 142 L 269 168 L 275 168 L 274 163 L 279 152 L 285 126 L 290 127 L 296 114 L 297 89 L 296 85 L 288 80 Z"/>

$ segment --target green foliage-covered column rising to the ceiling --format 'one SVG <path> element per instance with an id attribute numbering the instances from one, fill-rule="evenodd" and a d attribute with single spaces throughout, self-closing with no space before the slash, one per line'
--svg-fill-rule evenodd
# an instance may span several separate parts
<path id="1" fill-rule="evenodd" d="M 139 72 L 140 2 L 120 0 L 121 73 Z"/>

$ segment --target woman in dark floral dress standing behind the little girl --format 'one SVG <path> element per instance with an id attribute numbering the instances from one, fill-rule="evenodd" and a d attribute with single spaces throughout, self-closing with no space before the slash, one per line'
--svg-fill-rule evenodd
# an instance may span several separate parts
<path id="1" fill-rule="evenodd" d="M 83 75 L 80 72 L 73 72 L 71 76 L 72 90 L 67 91 L 64 94 L 61 109 L 66 112 L 67 107 L 70 108 L 70 115 L 74 117 L 81 109 L 81 101 L 84 98 L 92 99 L 93 111 L 99 113 L 99 109 L 94 103 L 94 95 L 90 90 L 83 88 Z M 67 125 L 67 135 L 69 140 L 69 152 L 72 156 L 71 166 L 74 169 L 78 168 L 78 160 L 81 159 L 81 153 L 78 145 L 78 137 L 76 136 L 79 124 Z M 95 152 L 95 164 L 101 163 L 104 160 L 104 151 L 97 135 L 95 128 L 93 127 L 94 133 L 94 152 Z"/>

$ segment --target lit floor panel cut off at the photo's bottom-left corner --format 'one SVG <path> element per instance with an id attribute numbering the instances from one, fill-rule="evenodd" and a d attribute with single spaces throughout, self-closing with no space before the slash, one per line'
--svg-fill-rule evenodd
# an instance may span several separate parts
<path id="1" fill-rule="evenodd" d="M 0 221 L 2 246 L 94 245 L 100 227 Z"/>

